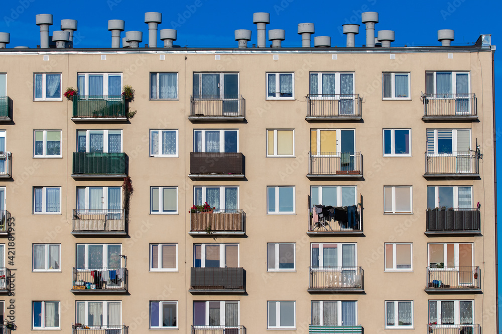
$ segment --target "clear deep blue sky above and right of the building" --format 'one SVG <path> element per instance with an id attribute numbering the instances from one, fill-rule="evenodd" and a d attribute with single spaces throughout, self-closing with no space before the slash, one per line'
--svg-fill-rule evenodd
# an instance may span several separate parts
<path id="1" fill-rule="evenodd" d="M 111 34 L 107 31 L 107 21 L 126 21 L 126 31 L 143 31 L 143 41 L 148 40 L 148 26 L 144 23 L 145 12 L 161 12 L 162 24 L 159 29 L 177 29 L 176 45 L 188 47 L 236 47 L 234 30 L 253 31 L 252 42 L 256 43 L 256 26 L 253 13 L 270 13 L 271 24 L 267 29 L 285 29 L 284 47 L 300 47 L 301 37 L 296 34 L 297 24 L 315 24 L 314 36 L 331 36 L 331 45 L 345 46 L 345 36 L 341 25 L 360 24 L 360 13 L 379 12 L 380 23 L 376 30 L 396 31 L 394 46 L 439 45 L 437 30 L 455 30 L 452 45 L 474 43 L 480 34 L 492 34 L 492 45 L 501 50 L 495 52 L 496 100 L 500 101 L 502 84 L 502 43 L 500 41 L 499 16 L 501 2 L 486 0 L 435 0 L 401 1 L 352 0 L 347 2 L 326 1 L 315 3 L 306 0 L 179 0 L 162 2 L 142 2 L 133 0 L 86 0 L 72 2 L 48 2 L 44 0 L 3 0 L 0 12 L 0 32 L 11 34 L 9 48 L 40 44 L 39 28 L 35 25 L 36 14 L 53 14 L 54 25 L 50 31 L 59 30 L 61 19 L 78 20 L 78 31 L 74 45 L 79 48 L 109 47 Z M 150 3 L 150 4 L 148 4 Z M 161 3 L 161 2 L 156 2 Z M 122 36 L 124 34 L 122 33 Z M 159 46 L 162 42 L 159 40 Z M 365 44 L 365 34 L 356 36 L 356 46 Z M 140 44 L 142 46 L 143 44 Z M 502 126 L 497 105 L 497 128 Z M 498 132 L 498 131 L 497 131 Z M 497 138 L 498 152 L 502 152 L 502 138 Z M 502 175 L 502 161 L 497 159 L 498 175 Z M 502 181 L 499 181 L 499 185 Z M 499 186 L 500 187 L 500 186 Z M 499 200 L 498 208 L 502 214 Z M 500 236 L 500 233 L 499 233 Z M 502 241 L 502 238 L 500 238 Z M 498 251 L 499 258 L 502 252 Z M 500 288 L 499 288 L 500 289 Z M 502 289 L 500 289 L 502 290 Z"/>

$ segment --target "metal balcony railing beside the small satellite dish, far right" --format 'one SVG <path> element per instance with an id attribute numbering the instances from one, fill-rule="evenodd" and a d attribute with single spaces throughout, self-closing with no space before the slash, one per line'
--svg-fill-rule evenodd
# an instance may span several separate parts
<path id="1" fill-rule="evenodd" d="M 425 152 L 425 177 L 478 175 L 479 159 L 474 151 Z"/>

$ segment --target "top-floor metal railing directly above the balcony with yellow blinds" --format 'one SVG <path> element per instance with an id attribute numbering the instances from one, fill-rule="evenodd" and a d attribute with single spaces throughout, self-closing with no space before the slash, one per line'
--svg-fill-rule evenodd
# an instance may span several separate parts
<path id="1" fill-rule="evenodd" d="M 359 94 L 309 94 L 305 119 L 361 119 L 361 98 Z"/>

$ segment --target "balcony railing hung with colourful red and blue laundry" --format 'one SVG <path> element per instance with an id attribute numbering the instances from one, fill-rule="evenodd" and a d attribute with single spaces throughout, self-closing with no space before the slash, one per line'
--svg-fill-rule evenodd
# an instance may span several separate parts
<path id="1" fill-rule="evenodd" d="M 128 270 L 123 267 L 73 267 L 72 292 L 127 292 Z"/>

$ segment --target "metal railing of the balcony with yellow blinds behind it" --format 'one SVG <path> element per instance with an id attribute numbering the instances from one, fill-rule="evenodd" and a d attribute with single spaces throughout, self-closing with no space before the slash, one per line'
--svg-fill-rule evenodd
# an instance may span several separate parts
<path id="1" fill-rule="evenodd" d="M 362 177 L 361 152 L 309 152 L 308 177 Z"/>

